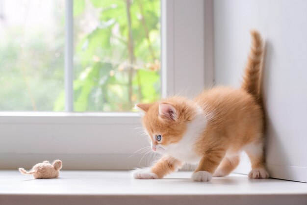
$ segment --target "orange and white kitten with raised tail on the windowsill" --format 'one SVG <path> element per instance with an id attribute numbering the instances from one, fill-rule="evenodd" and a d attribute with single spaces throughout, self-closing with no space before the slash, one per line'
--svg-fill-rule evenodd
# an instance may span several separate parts
<path id="1" fill-rule="evenodd" d="M 248 154 L 250 178 L 268 178 L 263 154 L 264 116 L 259 73 L 263 54 L 260 34 L 251 32 L 252 47 L 240 89 L 215 87 L 193 100 L 170 97 L 137 104 L 144 111 L 143 127 L 154 152 L 163 156 L 153 167 L 137 169 L 135 179 L 159 179 L 184 163 L 198 164 L 194 181 L 229 175 Z"/>

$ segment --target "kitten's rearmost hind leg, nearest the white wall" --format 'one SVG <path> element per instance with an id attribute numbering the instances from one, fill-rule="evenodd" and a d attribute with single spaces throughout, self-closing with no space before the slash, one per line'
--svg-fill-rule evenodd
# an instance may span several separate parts
<path id="1" fill-rule="evenodd" d="M 263 153 L 263 142 L 253 142 L 245 146 L 244 151 L 249 156 L 252 163 L 252 171 L 249 173 L 249 178 L 266 179 L 269 178 L 269 173 L 265 168 L 265 158 Z"/>

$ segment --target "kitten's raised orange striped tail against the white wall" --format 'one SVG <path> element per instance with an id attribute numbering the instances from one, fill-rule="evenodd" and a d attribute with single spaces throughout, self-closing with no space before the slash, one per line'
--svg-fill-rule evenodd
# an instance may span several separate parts
<path id="1" fill-rule="evenodd" d="M 256 101 L 260 98 L 260 66 L 262 63 L 263 45 L 258 31 L 251 31 L 252 46 L 245 67 L 245 74 L 241 88 L 252 94 Z"/>

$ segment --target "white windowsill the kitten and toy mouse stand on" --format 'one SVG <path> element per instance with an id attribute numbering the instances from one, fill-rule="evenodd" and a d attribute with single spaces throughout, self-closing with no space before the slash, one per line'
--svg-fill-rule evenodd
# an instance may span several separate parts
<path id="1" fill-rule="evenodd" d="M 307 183 L 248 179 L 232 174 L 193 182 L 190 172 L 165 179 L 131 179 L 128 171 L 62 171 L 58 179 L 33 179 L 0 171 L 0 204 L 306 204 Z"/>

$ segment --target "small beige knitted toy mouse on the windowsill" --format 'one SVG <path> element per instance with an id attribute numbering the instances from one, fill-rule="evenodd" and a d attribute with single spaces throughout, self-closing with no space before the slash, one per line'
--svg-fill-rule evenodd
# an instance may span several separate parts
<path id="1" fill-rule="evenodd" d="M 30 171 L 19 168 L 19 171 L 25 175 L 32 175 L 35 179 L 51 179 L 59 176 L 59 170 L 62 168 L 62 161 L 55 160 L 52 164 L 49 161 L 35 164 Z"/>

